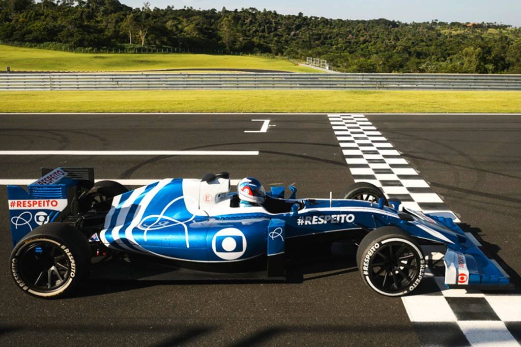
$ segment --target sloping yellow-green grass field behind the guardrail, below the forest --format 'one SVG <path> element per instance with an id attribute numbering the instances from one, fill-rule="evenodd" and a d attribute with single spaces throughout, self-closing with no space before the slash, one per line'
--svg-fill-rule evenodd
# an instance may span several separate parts
<path id="1" fill-rule="evenodd" d="M 162 69 L 263 69 L 317 72 L 284 59 L 208 54 L 83 54 L 0 45 L 0 68 L 38 71 L 131 71 Z"/>

